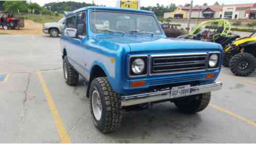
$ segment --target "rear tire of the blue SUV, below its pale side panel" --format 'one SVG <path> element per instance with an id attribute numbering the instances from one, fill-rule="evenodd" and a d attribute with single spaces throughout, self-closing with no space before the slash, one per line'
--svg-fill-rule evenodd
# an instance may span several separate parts
<path id="1" fill-rule="evenodd" d="M 64 67 L 66 67 L 67 76 L 65 76 Z M 78 84 L 79 74 L 74 69 L 74 67 L 68 62 L 67 56 L 63 58 L 63 74 L 67 85 L 76 86 Z"/>

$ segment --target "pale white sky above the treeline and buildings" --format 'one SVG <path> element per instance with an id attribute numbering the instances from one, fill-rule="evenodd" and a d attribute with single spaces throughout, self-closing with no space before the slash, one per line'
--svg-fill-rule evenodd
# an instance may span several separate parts
<path id="1" fill-rule="evenodd" d="M 75 1 L 75 2 L 85 2 L 85 3 L 92 3 L 92 0 L 31 0 L 31 2 L 38 3 L 39 5 L 43 6 L 44 4 L 51 3 L 51 2 L 63 2 L 63 1 Z M 107 7 L 115 7 L 116 1 L 113 0 L 95 0 L 96 5 L 105 5 Z M 178 5 L 184 5 L 186 3 L 190 3 L 190 0 L 141 0 L 140 6 L 148 7 L 148 6 L 155 6 L 157 3 L 160 5 L 170 5 L 171 3 Z M 256 3 L 256 0 L 194 0 L 193 5 L 203 5 L 207 3 L 208 5 L 213 5 L 215 2 L 220 4 L 246 4 L 246 3 Z"/>

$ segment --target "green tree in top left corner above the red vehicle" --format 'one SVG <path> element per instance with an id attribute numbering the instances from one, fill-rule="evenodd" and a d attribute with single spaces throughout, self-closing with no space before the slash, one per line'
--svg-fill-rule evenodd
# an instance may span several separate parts
<path id="1" fill-rule="evenodd" d="M 3 6 L 5 11 L 27 12 L 26 1 L 5 1 Z"/>

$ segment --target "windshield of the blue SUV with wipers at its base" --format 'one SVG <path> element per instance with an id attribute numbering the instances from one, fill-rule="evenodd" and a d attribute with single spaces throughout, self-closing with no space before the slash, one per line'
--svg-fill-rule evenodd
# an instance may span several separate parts
<path id="1" fill-rule="evenodd" d="M 161 34 L 154 16 L 137 13 L 93 11 L 90 13 L 90 27 L 95 33 Z"/>

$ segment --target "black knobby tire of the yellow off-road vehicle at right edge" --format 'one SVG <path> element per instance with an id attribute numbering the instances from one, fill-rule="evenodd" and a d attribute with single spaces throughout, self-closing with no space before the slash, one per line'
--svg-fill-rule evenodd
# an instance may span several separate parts
<path id="1" fill-rule="evenodd" d="M 239 69 L 239 64 L 246 61 L 249 65 L 245 70 Z M 248 76 L 255 71 L 256 58 L 250 53 L 238 53 L 230 60 L 230 70 L 236 76 Z"/>

